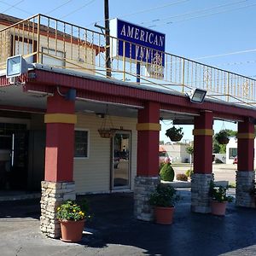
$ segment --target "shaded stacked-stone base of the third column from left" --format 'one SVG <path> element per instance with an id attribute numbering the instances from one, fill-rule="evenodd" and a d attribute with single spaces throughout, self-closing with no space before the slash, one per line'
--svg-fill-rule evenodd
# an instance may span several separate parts
<path id="1" fill-rule="evenodd" d="M 210 212 L 209 189 L 212 174 L 194 173 L 191 177 L 191 211 Z"/>

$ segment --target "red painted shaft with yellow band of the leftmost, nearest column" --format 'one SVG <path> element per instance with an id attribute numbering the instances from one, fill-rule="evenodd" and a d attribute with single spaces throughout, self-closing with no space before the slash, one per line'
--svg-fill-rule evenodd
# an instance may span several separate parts
<path id="1" fill-rule="evenodd" d="M 73 181 L 74 101 L 55 93 L 47 99 L 45 174 L 46 181 Z"/>

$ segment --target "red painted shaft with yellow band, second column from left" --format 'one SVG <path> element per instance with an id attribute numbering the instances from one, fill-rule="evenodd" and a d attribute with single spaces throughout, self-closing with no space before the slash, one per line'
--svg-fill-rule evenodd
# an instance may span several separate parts
<path id="1" fill-rule="evenodd" d="M 137 176 L 159 175 L 160 104 L 147 102 L 138 111 Z"/>

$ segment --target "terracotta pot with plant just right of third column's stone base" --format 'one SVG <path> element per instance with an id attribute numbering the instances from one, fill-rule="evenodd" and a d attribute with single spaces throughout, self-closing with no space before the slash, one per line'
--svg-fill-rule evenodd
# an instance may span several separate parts
<path id="1" fill-rule="evenodd" d="M 211 211 L 214 215 L 225 215 L 227 202 L 233 201 L 233 197 L 226 195 L 228 187 L 219 186 L 214 187 L 213 181 L 210 183 L 210 196 L 211 201 Z"/>

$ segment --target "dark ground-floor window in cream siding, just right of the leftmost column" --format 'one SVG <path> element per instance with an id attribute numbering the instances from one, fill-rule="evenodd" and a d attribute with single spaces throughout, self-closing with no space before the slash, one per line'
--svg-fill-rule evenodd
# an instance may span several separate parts
<path id="1" fill-rule="evenodd" d="M 75 131 L 74 157 L 88 157 L 88 131 Z"/>

